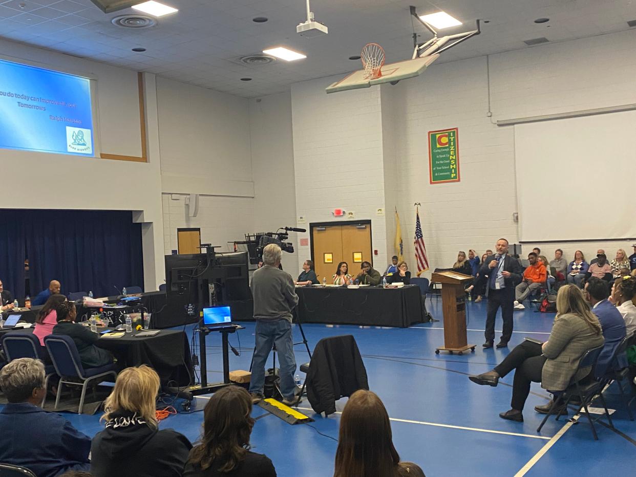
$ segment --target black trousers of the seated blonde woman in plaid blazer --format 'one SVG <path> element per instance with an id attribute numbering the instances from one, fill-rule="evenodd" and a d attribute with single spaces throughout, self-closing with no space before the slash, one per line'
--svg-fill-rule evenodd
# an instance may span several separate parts
<path id="1" fill-rule="evenodd" d="M 523 411 L 525 400 L 530 394 L 530 383 L 541 382 L 541 371 L 546 363 L 546 357 L 541 355 L 541 345 L 529 341 L 524 341 L 515 346 L 508 356 L 495 366 L 494 370 L 500 377 L 506 376 L 510 371 L 515 370 L 513 380 L 513 397 L 510 407 L 518 411 Z"/>

